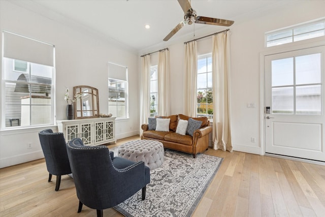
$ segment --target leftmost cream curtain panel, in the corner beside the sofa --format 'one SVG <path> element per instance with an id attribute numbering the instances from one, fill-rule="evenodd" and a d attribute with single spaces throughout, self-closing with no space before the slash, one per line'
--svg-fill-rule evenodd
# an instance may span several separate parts
<path id="1" fill-rule="evenodd" d="M 141 57 L 141 89 L 140 89 L 140 135 L 142 134 L 141 125 L 148 121 L 150 108 L 150 55 Z"/>

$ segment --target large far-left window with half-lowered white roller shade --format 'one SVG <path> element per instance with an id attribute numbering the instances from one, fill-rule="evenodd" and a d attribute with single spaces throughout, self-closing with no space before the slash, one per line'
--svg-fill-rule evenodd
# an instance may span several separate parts
<path id="1" fill-rule="evenodd" d="M 7 32 L 3 36 L 2 128 L 53 125 L 54 46 Z M 37 54 L 31 55 L 30 47 Z"/>

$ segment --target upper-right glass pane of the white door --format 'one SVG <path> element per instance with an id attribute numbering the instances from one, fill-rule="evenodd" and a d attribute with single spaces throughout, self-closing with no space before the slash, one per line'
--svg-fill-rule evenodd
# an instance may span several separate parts
<path id="1" fill-rule="evenodd" d="M 296 84 L 320 83 L 320 53 L 296 57 Z"/>

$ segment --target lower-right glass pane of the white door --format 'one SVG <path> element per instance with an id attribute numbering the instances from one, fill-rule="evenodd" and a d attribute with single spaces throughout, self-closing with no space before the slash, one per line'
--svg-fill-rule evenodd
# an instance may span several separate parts
<path id="1" fill-rule="evenodd" d="M 309 85 L 296 87 L 296 113 L 321 113 L 321 86 Z"/>

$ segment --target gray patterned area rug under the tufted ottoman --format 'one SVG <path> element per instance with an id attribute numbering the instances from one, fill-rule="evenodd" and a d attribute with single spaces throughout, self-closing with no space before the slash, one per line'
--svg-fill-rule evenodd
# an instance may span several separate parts
<path id="1" fill-rule="evenodd" d="M 117 148 L 112 149 L 117 156 Z M 164 163 L 150 171 L 146 199 L 141 191 L 114 208 L 125 216 L 191 216 L 218 171 L 222 158 L 167 149 Z"/>

